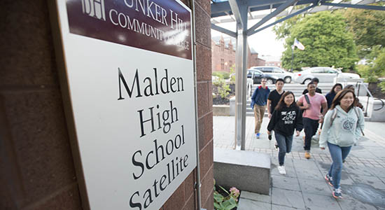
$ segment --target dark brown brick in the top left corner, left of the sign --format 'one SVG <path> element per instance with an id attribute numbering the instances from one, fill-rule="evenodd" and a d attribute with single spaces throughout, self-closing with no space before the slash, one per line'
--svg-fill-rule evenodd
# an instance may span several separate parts
<path id="1" fill-rule="evenodd" d="M 57 85 L 45 0 L 1 3 L 1 85 Z"/>

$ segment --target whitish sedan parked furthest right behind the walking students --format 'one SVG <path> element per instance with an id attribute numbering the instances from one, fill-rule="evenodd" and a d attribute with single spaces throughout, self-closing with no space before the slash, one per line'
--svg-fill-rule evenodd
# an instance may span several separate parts
<path id="1" fill-rule="evenodd" d="M 296 83 L 307 84 L 315 77 L 318 78 L 320 83 L 332 83 L 336 77 L 338 77 L 339 80 L 360 78 L 357 73 L 343 73 L 337 69 L 319 66 L 295 73 L 294 80 Z"/>

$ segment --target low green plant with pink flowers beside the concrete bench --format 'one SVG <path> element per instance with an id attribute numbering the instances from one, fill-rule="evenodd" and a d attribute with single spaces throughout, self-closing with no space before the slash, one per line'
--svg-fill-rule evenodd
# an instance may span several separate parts
<path id="1" fill-rule="evenodd" d="M 215 183 L 214 183 L 215 185 Z M 225 188 L 219 186 L 221 190 L 223 190 L 225 193 L 227 193 L 227 196 L 223 196 L 218 191 L 216 191 L 216 188 L 214 186 L 214 209 L 216 210 L 231 210 L 238 206 L 237 198 L 239 197 L 239 190 L 237 188 L 231 188 L 230 193 L 225 190 Z"/>

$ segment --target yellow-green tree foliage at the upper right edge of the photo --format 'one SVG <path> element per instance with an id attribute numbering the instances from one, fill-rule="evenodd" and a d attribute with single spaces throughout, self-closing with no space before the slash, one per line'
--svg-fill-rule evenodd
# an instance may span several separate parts
<path id="1" fill-rule="evenodd" d="M 384 3 L 377 3 L 383 6 Z M 385 13 L 380 10 L 339 10 L 353 33 L 360 58 L 366 57 L 376 45 L 385 44 Z"/>

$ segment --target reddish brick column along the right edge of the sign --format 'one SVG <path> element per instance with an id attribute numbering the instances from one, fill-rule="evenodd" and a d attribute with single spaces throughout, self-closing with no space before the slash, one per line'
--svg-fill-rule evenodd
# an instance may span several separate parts
<path id="1" fill-rule="evenodd" d="M 183 1 L 190 6 L 187 1 Z M 198 129 L 200 141 L 200 178 L 202 182 L 202 208 L 214 209 L 213 160 L 213 99 L 211 83 L 211 5 L 210 1 L 195 1 L 195 26 L 197 40 L 197 93 Z M 196 170 L 196 169 L 195 169 Z M 194 183 L 195 170 L 163 206 L 163 210 L 197 209 Z"/>

